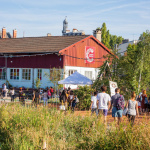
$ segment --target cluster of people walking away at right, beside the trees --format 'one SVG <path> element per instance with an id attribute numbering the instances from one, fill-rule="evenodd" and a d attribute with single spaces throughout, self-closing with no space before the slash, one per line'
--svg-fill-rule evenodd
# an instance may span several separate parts
<path id="1" fill-rule="evenodd" d="M 126 115 L 131 122 L 134 124 L 136 115 L 139 116 L 139 102 L 141 103 L 140 110 L 150 112 L 150 98 L 147 100 L 146 91 L 136 96 L 135 92 L 131 93 L 130 99 L 125 104 L 123 95 L 120 95 L 120 89 L 115 89 L 115 95 L 110 97 L 106 93 L 107 87 L 102 86 L 101 92 L 94 92 L 94 96 L 91 98 L 91 112 L 95 112 L 96 115 L 103 115 L 104 121 L 107 120 L 108 111 L 112 110 L 112 117 L 114 120 L 118 120 L 118 125 L 122 121 L 122 115 Z M 140 100 L 140 101 L 139 101 Z"/>

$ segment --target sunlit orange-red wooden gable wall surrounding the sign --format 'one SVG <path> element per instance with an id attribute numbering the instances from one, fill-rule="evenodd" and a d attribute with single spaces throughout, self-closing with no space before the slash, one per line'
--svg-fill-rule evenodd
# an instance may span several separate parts
<path id="1" fill-rule="evenodd" d="M 97 43 L 93 38 L 89 38 L 84 40 L 76 45 L 69 47 L 62 54 L 66 54 L 69 56 L 74 56 L 78 58 L 85 58 L 85 46 L 95 47 L 95 58 L 101 58 L 104 55 L 109 54 L 101 45 Z M 69 56 L 64 56 L 64 65 L 65 66 L 79 66 L 79 67 L 92 67 L 97 68 L 100 67 L 105 59 L 95 59 L 94 63 L 85 63 L 83 59 L 76 59 Z"/>

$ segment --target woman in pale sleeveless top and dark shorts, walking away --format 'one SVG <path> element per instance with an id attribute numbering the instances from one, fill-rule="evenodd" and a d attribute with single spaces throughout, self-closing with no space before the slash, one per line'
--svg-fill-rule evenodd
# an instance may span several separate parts
<path id="1" fill-rule="evenodd" d="M 136 114 L 139 116 L 135 92 L 132 92 L 131 99 L 127 102 L 126 108 L 128 108 L 127 115 L 129 122 L 131 123 L 131 126 L 133 126 Z"/>

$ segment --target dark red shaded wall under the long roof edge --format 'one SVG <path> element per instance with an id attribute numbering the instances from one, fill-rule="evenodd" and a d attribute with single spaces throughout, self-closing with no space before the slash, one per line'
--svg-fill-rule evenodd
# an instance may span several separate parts
<path id="1" fill-rule="evenodd" d="M 0 58 L 0 67 L 5 67 L 5 58 Z M 63 57 L 56 54 L 7 58 L 7 68 L 63 68 Z"/>

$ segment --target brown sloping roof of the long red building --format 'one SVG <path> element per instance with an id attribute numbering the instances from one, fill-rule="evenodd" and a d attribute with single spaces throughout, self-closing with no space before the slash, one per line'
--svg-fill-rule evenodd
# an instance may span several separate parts
<path id="1" fill-rule="evenodd" d="M 88 35 L 5 38 L 0 39 L 0 53 L 59 52 L 86 37 Z"/>

